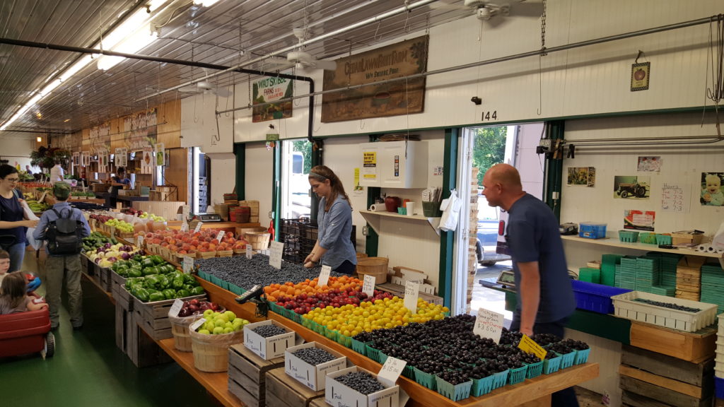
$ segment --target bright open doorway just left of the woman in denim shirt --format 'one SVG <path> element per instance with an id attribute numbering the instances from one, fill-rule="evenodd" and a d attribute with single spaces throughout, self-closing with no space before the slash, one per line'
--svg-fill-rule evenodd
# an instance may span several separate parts
<path id="1" fill-rule="evenodd" d="M 282 219 L 310 217 L 311 154 L 312 144 L 306 139 L 282 141 Z"/>

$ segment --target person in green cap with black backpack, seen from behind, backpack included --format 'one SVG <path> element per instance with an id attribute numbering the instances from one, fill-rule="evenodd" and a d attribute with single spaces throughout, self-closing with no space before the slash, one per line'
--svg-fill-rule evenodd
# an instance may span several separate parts
<path id="1" fill-rule="evenodd" d="M 50 306 L 51 330 L 56 330 L 59 322 L 60 296 L 65 278 L 70 306 L 70 323 L 74 330 L 83 327 L 83 291 L 80 288 L 80 251 L 83 238 L 90 235 L 88 221 L 78 209 L 67 203 L 70 185 L 56 182 L 53 196 L 57 203 L 43 212 L 33 238 L 46 240 L 46 300 Z"/>

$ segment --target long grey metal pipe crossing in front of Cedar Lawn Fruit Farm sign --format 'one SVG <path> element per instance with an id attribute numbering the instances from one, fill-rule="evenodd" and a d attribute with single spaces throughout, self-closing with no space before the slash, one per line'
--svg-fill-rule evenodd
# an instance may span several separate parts
<path id="1" fill-rule="evenodd" d="M 528 51 L 528 52 L 523 52 L 522 54 L 500 56 L 499 58 L 486 59 L 484 61 L 471 62 L 469 64 L 457 65 L 455 67 L 441 68 L 439 70 L 421 72 L 418 74 L 413 74 L 413 75 L 408 75 L 408 76 L 403 76 L 403 77 L 394 77 L 392 79 L 380 80 L 378 82 L 373 82 L 373 83 L 365 83 L 362 85 L 350 85 L 350 86 L 345 86 L 344 88 L 337 88 L 337 89 L 332 89 L 329 91 L 319 91 L 316 93 L 308 93 L 306 95 L 292 96 L 290 98 L 280 99 L 279 101 L 289 101 L 289 100 L 293 100 L 296 98 L 306 98 L 308 96 L 321 96 L 321 95 L 325 95 L 327 93 L 350 91 L 352 89 L 363 88 L 363 87 L 369 86 L 369 85 L 383 85 L 385 83 L 399 82 L 401 80 L 411 80 L 411 79 L 416 79 L 418 77 L 427 77 L 430 75 L 438 75 L 441 73 L 454 72 L 454 71 L 458 71 L 458 70 L 466 70 L 469 68 L 481 67 L 484 65 L 497 64 L 499 62 L 513 61 L 514 59 L 528 58 L 530 56 L 539 56 L 541 54 L 550 54 L 551 52 L 557 52 L 557 51 L 566 51 L 568 49 L 576 49 L 576 48 L 581 48 L 583 46 L 591 46 L 591 45 L 595 45 L 595 44 L 599 44 L 599 43 L 618 41 L 618 40 L 622 40 L 622 39 L 626 39 L 626 38 L 637 37 L 640 35 L 661 33 L 663 31 L 676 30 L 678 28 L 687 28 L 687 27 L 692 27 L 694 25 L 702 25 L 702 24 L 707 24 L 707 23 L 716 22 L 716 21 L 724 21 L 724 14 L 717 14 L 717 15 L 714 15 L 711 17 L 704 17 L 704 18 L 699 18 L 696 20 L 689 20 L 689 21 L 685 21 L 685 22 L 677 22 L 677 23 L 670 24 L 670 25 L 662 25 L 660 27 L 647 28 L 647 29 L 639 30 L 639 31 L 632 31 L 631 33 L 610 35 L 608 37 L 596 38 L 596 39 L 587 40 L 587 41 L 580 41 L 577 43 L 571 43 L 571 44 L 562 45 L 562 46 L 554 46 L 552 48 L 544 48 L 544 49 L 539 49 L 536 51 Z M 275 101 L 275 102 L 279 102 L 279 101 Z M 256 104 L 255 106 L 264 106 L 264 104 Z M 248 109 L 248 106 L 238 107 L 238 108 L 229 109 L 229 110 L 223 110 L 223 111 L 219 111 L 216 113 L 222 114 L 222 113 L 234 112 L 236 110 L 243 110 L 243 109 Z"/>

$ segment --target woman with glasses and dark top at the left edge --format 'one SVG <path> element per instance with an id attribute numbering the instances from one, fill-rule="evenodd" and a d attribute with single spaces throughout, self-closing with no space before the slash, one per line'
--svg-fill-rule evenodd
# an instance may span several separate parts
<path id="1" fill-rule="evenodd" d="M 15 189 L 18 181 L 15 167 L 0 165 L 0 248 L 10 253 L 9 272 L 19 270 L 25 258 L 25 228 L 38 225 L 38 221 L 25 218 L 22 196 Z"/>

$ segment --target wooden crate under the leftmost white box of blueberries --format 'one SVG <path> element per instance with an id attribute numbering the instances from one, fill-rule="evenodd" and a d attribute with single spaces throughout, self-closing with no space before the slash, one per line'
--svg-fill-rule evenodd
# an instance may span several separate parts
<path id="1" fill-rule="evenodd" d="M 249 351 L 243 343 L 229 347 L 229 391 L 246 406 L 266 406 L 266 372 L 282 368 L 284 358 L 269 361 Z M 289 378 L 293 380 L 292 378 Z"/>

